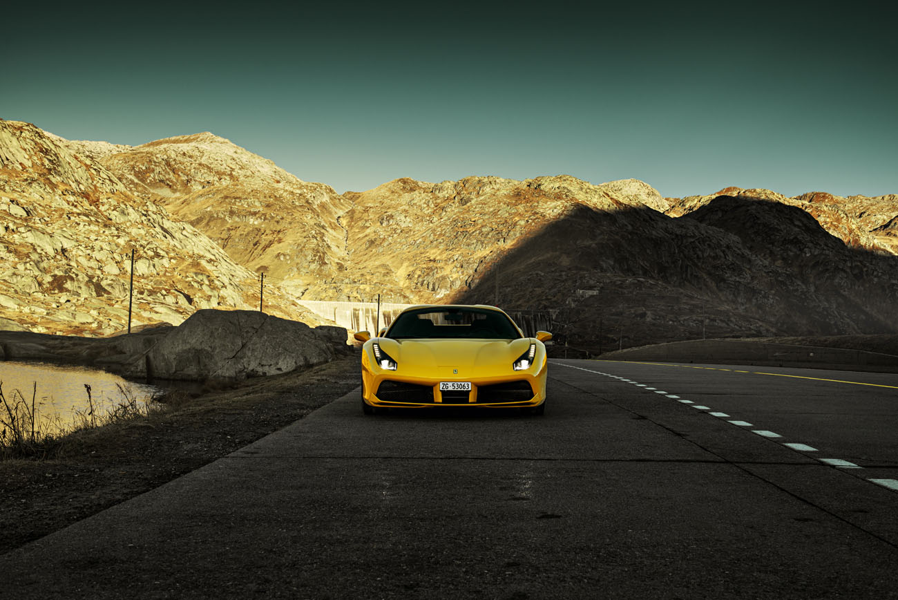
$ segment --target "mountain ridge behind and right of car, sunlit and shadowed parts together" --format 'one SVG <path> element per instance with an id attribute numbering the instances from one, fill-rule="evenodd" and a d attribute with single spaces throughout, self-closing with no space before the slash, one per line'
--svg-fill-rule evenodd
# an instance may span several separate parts
<path id="1" fill-rule="evenodd" d="M 347 197 L 348 269 L 308 290 L 318 297 L 553 311 L 556 329 L 593 351 L 898 327 L 898 260 L 865 229 L 876 222 L 838 220 L 838 205 L 818 214 L 843 237 L 794 206 L 806 200 L 766 190 L 680 217 L 641 181 L 569 176 L 405 179 Z"/>

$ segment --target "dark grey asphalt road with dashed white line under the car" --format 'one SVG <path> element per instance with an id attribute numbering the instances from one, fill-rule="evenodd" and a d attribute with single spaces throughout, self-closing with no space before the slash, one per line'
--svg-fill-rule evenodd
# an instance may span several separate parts
<path id="1" fill-rule="evenodd" d="M 898 597 L 898 375 L 552 362 L 544 417 L 350 393 L 0 557 L 0 596 Z"/>

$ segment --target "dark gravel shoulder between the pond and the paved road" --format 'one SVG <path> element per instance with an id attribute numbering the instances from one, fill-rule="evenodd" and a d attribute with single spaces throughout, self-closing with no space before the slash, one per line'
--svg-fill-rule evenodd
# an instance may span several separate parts
<path id="1" fill-rule="evenodd" d="M 207 390 L 79 434 L 52 460 L 0 463 L 0 554 L 152 490 L 302 419 L 357 387 L 358 357 Z"/>

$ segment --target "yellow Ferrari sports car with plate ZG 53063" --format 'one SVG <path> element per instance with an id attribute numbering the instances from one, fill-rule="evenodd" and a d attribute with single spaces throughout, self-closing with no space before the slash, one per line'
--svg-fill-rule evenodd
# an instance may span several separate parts
<path id="1" fill-rule="evenodd" d="M 402 311 L 378 338 L 359 331 L 362 410 L 546 407 L 547 331 L 524 337 L 506 313 L 483 305 L 423 305 Z"/>

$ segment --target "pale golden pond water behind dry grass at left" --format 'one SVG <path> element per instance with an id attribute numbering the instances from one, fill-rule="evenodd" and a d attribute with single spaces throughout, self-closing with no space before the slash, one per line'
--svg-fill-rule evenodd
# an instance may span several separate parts
<path id="1" fill-rule="evenodd" d="M 69 428 L 79 411 L 87 412 L 89 404 L 84 384 L 91 386 L 93 407 L 98 415 L 104 415 L 111 407 L 125 400 L 119 385 L 141 401 L 159 390 L 153 385 L 136 384 L 119 375 L 83 366 L 0 361 L 0 383 L 3 384 L 7 402 L 12 403 L 13 392 L 18 390 L 31 406 L 34 382 L 38 384 L 37 394 L 34 394 L 37 422 L 46 424 L 48 431 Z M 5 417 L 6 409 L 2 402 L 0 410 Z"/>

